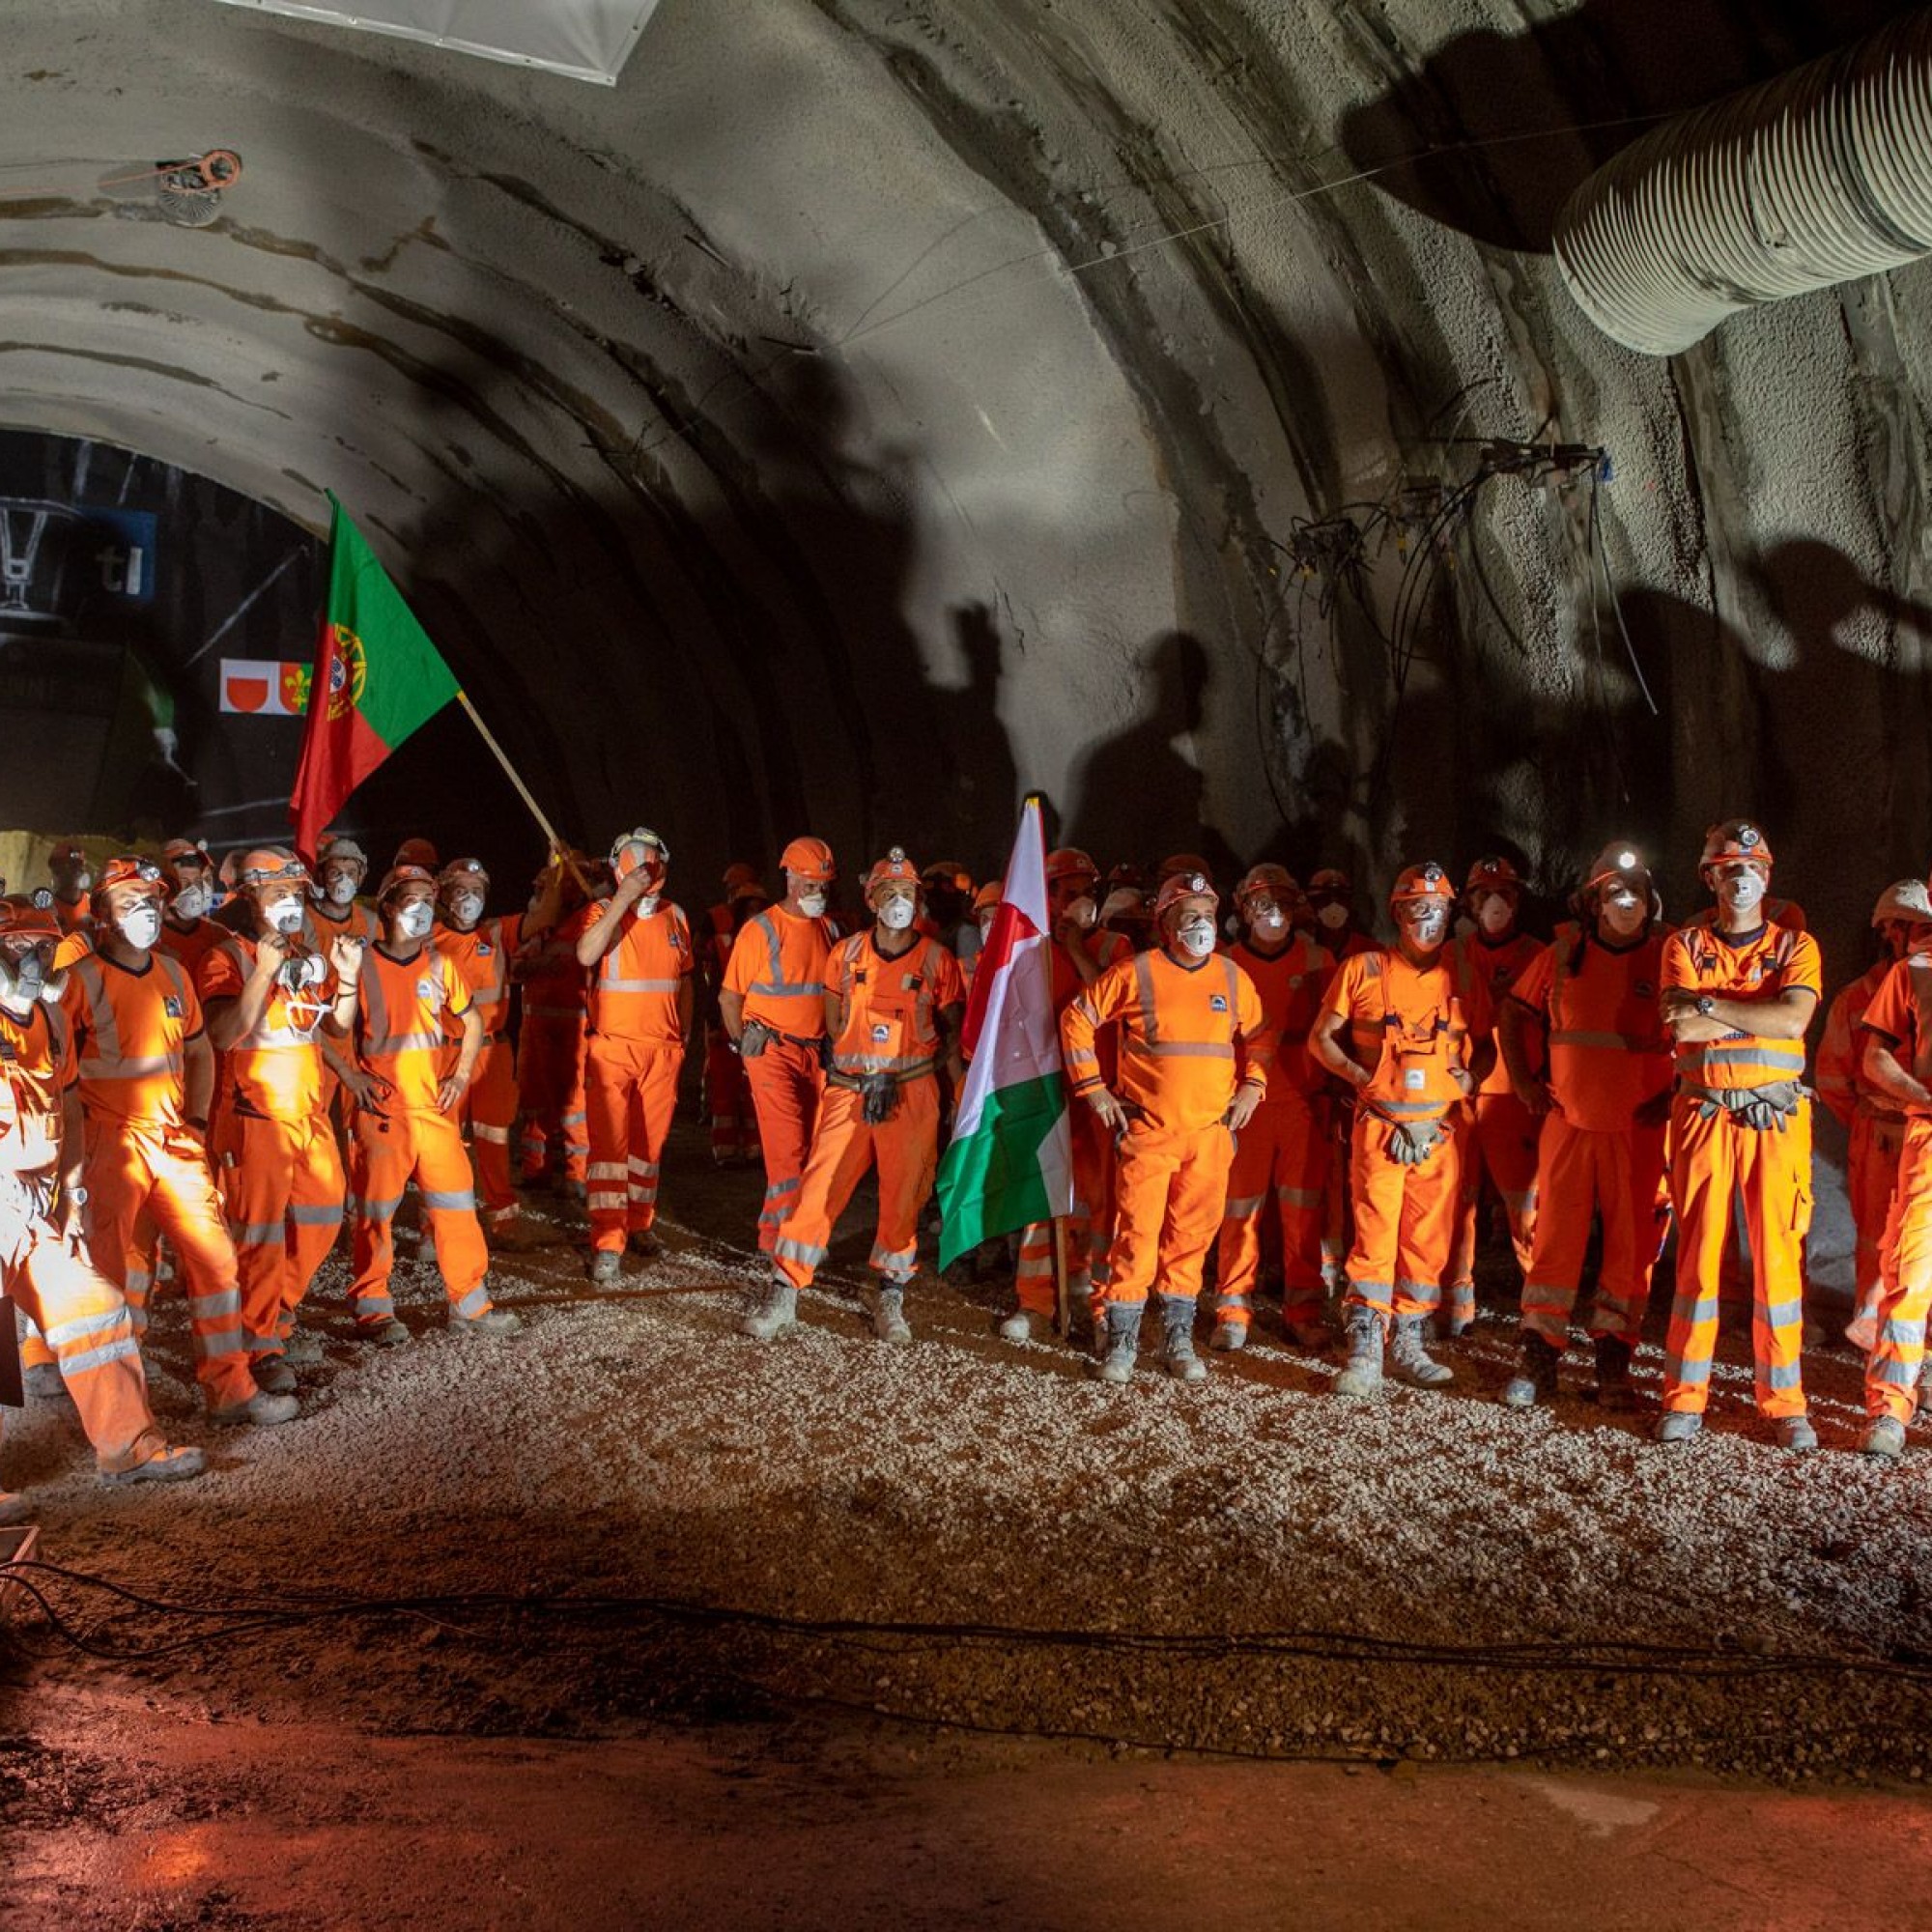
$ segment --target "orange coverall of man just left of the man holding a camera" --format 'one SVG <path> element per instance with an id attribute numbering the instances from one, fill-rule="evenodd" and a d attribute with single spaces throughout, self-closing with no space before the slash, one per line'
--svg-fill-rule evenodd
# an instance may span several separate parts
<path id="1" fill-rule="evenodd" d="M 236 1248 L 209 1150 L 182 1111 L 185 1047 L 203 1036 L 201 1001 L 180 960 L 151 952 L 139 972 L 99 954 L 81 960 L 62 1005 L 81 1076 L 87 1252 L 122 1283 L 139 1335 L 155 1285 L 155 1233 L 166 1235 L 187 1283 L 195 1379 L 211 1408 L 245 1403 L 257 1391 Z"/>

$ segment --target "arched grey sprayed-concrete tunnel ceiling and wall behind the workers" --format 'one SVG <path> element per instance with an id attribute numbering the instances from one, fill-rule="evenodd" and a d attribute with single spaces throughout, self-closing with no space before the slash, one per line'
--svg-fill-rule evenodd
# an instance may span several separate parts
<path id="1" fill-rule="evenodd" d="M 0 417 L 355 508 L 560 813 L 997 862 L 1779 835 L 1922 869 L 1922 269 L 1669 363 L 1569 303 L 1569 187 L 1872 4 L 665 0 L 616 89 L 201 0 L 10 19 Z M 97 191 L 230 145 L 187 230 Z M 1403 554 L 1296 520 L 1501 479 Z M 1364 512 L 1356 512 L 1360 518 Z M 1387 527 L 1381 531 L 1387 537 Z M 296 649 L 292 639 L 292 651 Z M 1857 850 L 1861 864 L 1845 867 Z"/>

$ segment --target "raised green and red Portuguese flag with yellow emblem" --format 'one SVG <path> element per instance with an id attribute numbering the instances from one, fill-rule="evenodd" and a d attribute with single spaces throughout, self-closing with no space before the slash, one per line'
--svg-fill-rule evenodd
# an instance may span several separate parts
<path id="1" fill-rule="evenodd" d="M 315 639 L 296 792 L 288 800 L 296 850 L 307 860 L 350 792 L 460 696 L 456 674 L 334 491 L 328 508 L 328 601 Z"/>

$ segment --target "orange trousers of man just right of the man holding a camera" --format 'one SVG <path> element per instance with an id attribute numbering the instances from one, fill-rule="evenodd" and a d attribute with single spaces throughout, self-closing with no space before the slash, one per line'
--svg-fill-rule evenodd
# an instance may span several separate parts
<path id="1" fill-rule="evenodd" d="M 479 1316 L 491 1306 L 483 1277 L 489 1248 L 477 1223 L 477 1198 L 469 1186 L 464 1136 L 446 1113 L 377 1113 L 355 1109 L 350 1144 L 350 1194 L 355 1208 L 350 1310 L 357 1327 L 377 1327 L 396 1314 L 388 1277 L 396 1265 L 390 1231 L 402 1194 L 415 1180 L 437 1244 L 437 1267 L 450 1306 L 460 1316 Z"/>

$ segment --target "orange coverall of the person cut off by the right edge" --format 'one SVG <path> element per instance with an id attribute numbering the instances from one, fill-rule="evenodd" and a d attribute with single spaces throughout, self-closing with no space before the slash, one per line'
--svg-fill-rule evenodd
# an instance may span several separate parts
<path id="1" fill-rule="evenodd" d="M 1899 960 L 1864 1009 L 1876 1036 L 1920 1086 L 1932 1086 L 1932 962 Z M 1905 1146 L 1882 1236 L 1884 1283 L 1864 1362 L 1864 1412 L 1911 1422 L 1932 1314 L 1932 1109 L 1905 1109 Z"/>

